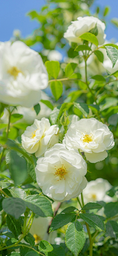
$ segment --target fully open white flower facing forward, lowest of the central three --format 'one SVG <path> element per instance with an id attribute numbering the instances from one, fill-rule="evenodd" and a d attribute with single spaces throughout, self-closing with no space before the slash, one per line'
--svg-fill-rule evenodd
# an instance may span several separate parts
<path id="1" fill-rule="evenodd" d="M 87 164 L 82 156 L 56 144 L 37 160 L 36 180 L 42 192 L 53 200 L 63 202 L 77 197 L 87 185 Z"/>

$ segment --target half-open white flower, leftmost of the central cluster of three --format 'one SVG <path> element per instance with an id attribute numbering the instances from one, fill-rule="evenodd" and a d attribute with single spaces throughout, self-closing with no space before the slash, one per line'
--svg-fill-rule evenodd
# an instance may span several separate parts
<path id="1" fill-rule="evenodd" d="M 47 148 L 59 141 L 58 126 L 50 125 L 49 119 L 43 117 L 41 121 L 34 120 L 33 125 L 28 126 L 22 134 L 22 146 L 30 154 L 35 153 L 38 158 Z"/>

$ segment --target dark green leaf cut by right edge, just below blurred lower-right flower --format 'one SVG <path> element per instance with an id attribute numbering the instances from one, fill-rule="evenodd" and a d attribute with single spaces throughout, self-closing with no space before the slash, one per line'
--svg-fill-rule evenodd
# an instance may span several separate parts
<path id="1" fill-rule="evenodd" d="M 118 214 L 118 202 L 107 203 L 104 208 L 104 213 L 108 218 Z"/>

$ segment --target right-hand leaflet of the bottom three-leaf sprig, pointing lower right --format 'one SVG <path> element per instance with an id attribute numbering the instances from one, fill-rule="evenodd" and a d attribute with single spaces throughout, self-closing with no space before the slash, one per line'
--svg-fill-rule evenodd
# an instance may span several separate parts
<path id="1" fill-rule="evenodd" d="M 95 214 L 89 214 L 89 213 L 81 213 L 80 218 L 83 219 L 85 222 L 87 222 L 90 226 L 97 230 L 103 230 L 105 231 L 104 223 L 102 219 Z"/>

